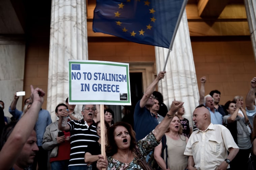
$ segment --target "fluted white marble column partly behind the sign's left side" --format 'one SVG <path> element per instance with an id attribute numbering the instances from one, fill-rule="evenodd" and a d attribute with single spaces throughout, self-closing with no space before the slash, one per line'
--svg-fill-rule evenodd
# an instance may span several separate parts
<path id="1" fill-rule="evenodd" d="M 50 36 L 47 110 L 54 122 L 56 106 L 68 97 L 68 60 L 88 59 L 86 1 L 52 0 Z"/>

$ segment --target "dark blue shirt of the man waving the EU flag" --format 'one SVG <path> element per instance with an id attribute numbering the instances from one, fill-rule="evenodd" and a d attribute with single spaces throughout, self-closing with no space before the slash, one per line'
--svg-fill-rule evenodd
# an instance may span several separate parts
<path id="1" fill-rule="evenodd" d="M 153 117 L 146 108 L 140 108 L 140 100 L 134 109 L 134 131 L 136 132 L 136 140 L 140 140 L 147 136 L 158 125 L 157 119 Z"/>

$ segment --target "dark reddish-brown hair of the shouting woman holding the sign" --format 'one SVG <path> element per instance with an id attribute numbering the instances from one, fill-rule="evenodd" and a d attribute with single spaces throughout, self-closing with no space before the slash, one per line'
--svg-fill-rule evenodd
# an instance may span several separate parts
<path id="1" fill-rule="evenodd" d="M 106 148 L 107 156 L 113 156 L 118 151 L 118 147 L 117 147 L 117 144 L 115 141 L 115 135 L 114 135 L 114 131 L 116 130 L 116 128 L 118 126 L 125 127 L 129 133 L 129 135 L 131 136 L 131 142 L 130 142 L 130 150 L 131 151 L 133 150 L 133 148 L 136 145 L 135 132 L 132 130 L 132 126 L 126 122 L 117 122 L 107 129 L 107 139 L 108 139 L 108 146 Z"/>

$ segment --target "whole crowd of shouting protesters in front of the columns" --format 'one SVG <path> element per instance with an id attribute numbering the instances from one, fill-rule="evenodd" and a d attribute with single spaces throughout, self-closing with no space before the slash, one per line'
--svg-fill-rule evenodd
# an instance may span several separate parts
<path id="1" fill-rule="evenodd" d="M 31 86 L 23 111 L 16 109 L 19 96 L 14 95 L 11 118 L 4 116 L 0 100 L 0 170 L 247 169 L 251 151 L 256 154 L 256 77 L 245 109 L 242 96 L 220 105 L 220 91 L 205 95 L 202 77 L 192 127 L 184 117 L 186 103 L 174 100 L 168 111 L 162 94 L 154 91 L 164 76 L 159 72 L 142 98 L 124 108 L 127 114 L 121 122 L 114 122 L 114 112 L 105 106 L 105 143 L 99 105 L 85 104 L 75 113 L 76 105 L 67 98 L 56 106 L 52 122 L 41 108 L 45 93 L 40 88 Z"/>

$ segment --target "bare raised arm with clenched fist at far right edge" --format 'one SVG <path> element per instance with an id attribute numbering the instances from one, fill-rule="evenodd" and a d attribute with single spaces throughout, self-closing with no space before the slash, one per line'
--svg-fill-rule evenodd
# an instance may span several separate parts
<path id="1" fill-rule="evenodd" d="M 251 80 L 251 89 L 248 92 L 246 99 L 245 99 L 245 104 L 246 104 L 246 108 L 249 111 L 254 110 L 254 99 L 255 99 L 255 92 L 256 92 L 256 77 L 254 77 Z"/>

